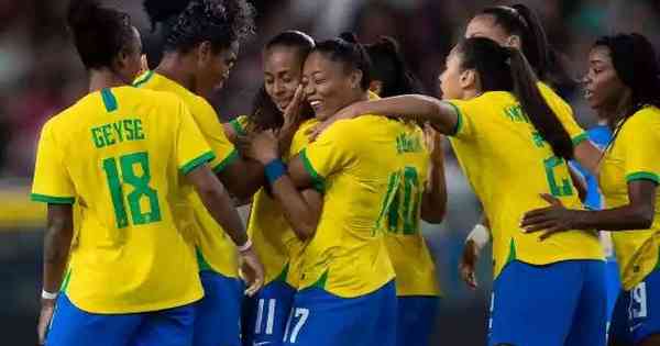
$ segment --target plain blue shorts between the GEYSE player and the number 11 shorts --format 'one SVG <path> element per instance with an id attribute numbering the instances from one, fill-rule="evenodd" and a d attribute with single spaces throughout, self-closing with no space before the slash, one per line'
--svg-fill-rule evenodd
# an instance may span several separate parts
<path id="1" fill-rule="evenodd" d="M 212 270 L 199 272 L 204 298 L 195 304 L 193 346 L 240 346 L 243 281 Z"/>

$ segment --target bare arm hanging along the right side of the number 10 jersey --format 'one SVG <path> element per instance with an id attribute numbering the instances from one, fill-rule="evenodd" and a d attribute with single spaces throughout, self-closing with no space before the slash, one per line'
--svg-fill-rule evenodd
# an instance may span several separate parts
<path id="1" fill-rule="evenodd" d="M 431 164 L 429 181 L 421 202 L 421 219 L 429 223 L 440 223 L 447 212 L 447 183 L 442 160 Z"/>

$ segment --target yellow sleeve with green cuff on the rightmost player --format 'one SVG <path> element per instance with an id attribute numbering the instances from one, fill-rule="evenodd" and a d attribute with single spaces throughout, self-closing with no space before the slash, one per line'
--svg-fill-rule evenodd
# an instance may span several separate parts
<path id="1" fill-rule="evenodd" d="M 625 145 L 626 181 L 651 180 L 660 183 L 660 122 L 647 121 L 657 114 L 638 114 L 628 120 L 615 141 Z M 637 118 L 637 119 L 636 119 Z M 615 143 L 616 145 L 617 143 Z"/>

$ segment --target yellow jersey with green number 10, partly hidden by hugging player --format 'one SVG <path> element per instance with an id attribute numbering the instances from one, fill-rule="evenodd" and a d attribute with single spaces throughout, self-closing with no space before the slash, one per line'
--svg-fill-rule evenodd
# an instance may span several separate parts
<path id="1" fill-rule="evenodd" d="M 397 295 L 440 295 L 436 265 L 420 232 L 421 199 L 428 180 L 429 153 L 422 130 L 402 123 L 396 138 L 400 179 L 385 222 L 385 245 L 396 274 Z"/>

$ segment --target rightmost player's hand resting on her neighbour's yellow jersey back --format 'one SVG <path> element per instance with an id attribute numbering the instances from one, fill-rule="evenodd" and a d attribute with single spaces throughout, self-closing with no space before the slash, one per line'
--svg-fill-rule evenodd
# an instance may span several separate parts
<path id="1" fill-rule="evenodd" d="M 542 193 L 541 198 L 550 203 L 550 207 L 528 211 L 522 216 L 520 227 L 526 233 L 544 231 L 540 238 L 546 239 L 558 232 L 573 230 L 578 221 L 578 211 L 566 209 L 556 197 Z"/>

